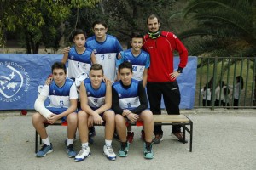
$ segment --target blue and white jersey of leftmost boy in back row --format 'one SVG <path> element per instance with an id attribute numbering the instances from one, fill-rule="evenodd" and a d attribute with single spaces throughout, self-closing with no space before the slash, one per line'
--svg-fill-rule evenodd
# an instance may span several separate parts
<path id="1" fill-rule="evenodd" d="M 86 48 L 83 54 L 78 54 L 75 47 L 72 47 L 68 53 L 68 77 L 75 78 L 81 73 L 89 74 L 92 50 Z"/>

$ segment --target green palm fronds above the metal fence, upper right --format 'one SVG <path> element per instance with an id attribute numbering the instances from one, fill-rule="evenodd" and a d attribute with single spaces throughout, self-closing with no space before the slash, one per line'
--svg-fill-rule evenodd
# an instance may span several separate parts
<path id="1" fill-rule="evenodd" d="M 183 16 L 195 23 L 195 27 L 183 31 L 179 37 L 200 37 L 189 46 L 190 55 L 256 56 L 253 1 L 193 0 L 183 8 Z"/>

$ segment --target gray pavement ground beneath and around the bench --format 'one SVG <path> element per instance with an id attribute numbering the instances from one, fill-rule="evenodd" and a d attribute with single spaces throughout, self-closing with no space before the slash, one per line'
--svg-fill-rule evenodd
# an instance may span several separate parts
<path id="1" fill-rule="evenodd" d="M 141 127 L 132 127 L 135 139 L 128 157 L 108 161 L 102 155 L 103 127 L 96 127 L 95 144 L 90 145 L 92 155 L 85 161 L 74 162 L 65 152 L 66 127 L 47 127 L 54 152 L 37 158 L 32 112 L 20 116 L 18 111 L 0 111 L 0 169 L 256 169 L 255 110 L 195 109 L 182 113 L 194 122 L 192 153 L 189 144 L 172 139 L 170 126 L 163 126 L 164 140 L 154 145 L 154 159 L 145 160 L 143 142 L 139 139 Z M 79 138 L 74 144 L 79 151 Z M 116 153 L 119 150 L 116 140 L 113 149 Z"/>

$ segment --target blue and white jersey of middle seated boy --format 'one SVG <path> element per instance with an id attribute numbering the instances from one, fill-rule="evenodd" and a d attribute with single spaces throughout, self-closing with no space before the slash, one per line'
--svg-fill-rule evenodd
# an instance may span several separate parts
<path id="1" fill-rule="evenodd" d="M 88 105 L 93 110 L 100 108 L 105 104 L 106 96 L 106 83 L 102 81 L 100 88 L 94 89 L 91 86 L 90 78 L 84 80 L 84 86 L 86 88 Z"/>

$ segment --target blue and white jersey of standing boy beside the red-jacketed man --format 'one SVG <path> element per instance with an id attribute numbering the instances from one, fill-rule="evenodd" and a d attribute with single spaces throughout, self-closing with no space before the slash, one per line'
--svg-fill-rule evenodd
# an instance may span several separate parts
<path id="1" fill-rule="evenodd" d="M 141 50 L 141 54 L 138 56 L 134 56 L 131 52 L 131 48 L 121 52 L 122 59 L 117 60 L 117 67 L 125 62 L 129 61 L 132 65 L 132 78 L 142 81 L 143 80 L 143 72 L 145 69 L 149 68 L 150 58 L 149 54 L 143 50 Z"/>

